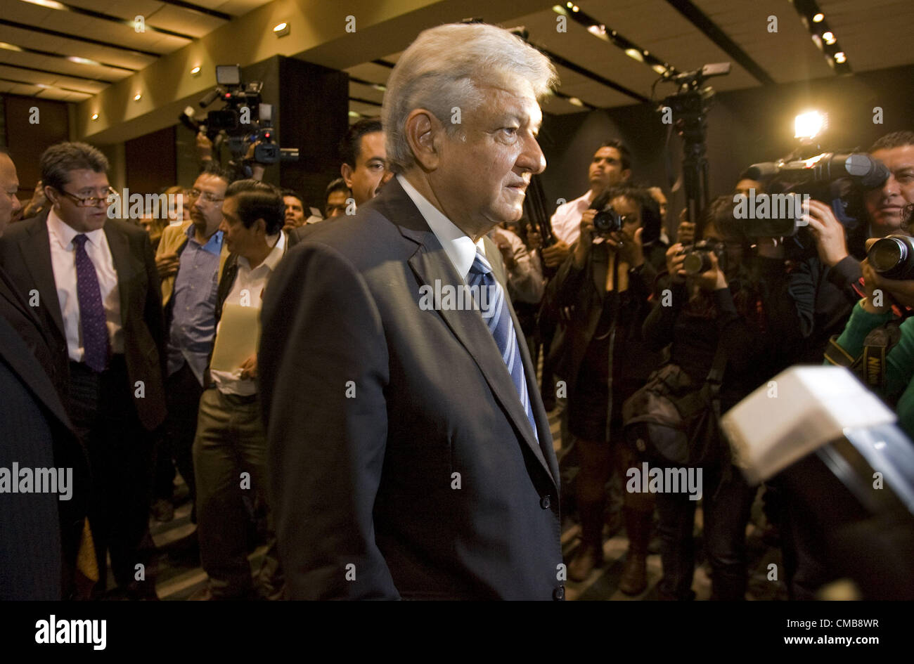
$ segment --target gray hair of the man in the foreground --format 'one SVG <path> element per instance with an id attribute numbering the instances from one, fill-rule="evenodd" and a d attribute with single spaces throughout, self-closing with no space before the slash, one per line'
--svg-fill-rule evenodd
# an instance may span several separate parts
<path id="1" fill-rule="evenodd" d="M 403 173 L 415 163 L 405 133 L 411 111 L 427 109 L 454 135 L 461 130 L 450 121 L 454 107 L 472 111 L 485 101 L 481 87 L 511 89 L 515 77 L 530 83 L 537 100 L 558 83 L 549 58 L 500 27 L 451 24 L 422 31 L 400 56 L 384 95 L 388 168 Z"/>

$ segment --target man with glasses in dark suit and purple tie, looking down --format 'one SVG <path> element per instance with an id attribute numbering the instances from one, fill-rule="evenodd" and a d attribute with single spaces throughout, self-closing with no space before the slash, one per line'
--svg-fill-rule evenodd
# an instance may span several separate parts
<path id="1" fill-rule="evenodd" d="M 50 337 L 58 388 L 92 473 L 90 526 L 128 595 L 154 597 L 139 551 L 149 511 L 149 432 L 165 419 L 159 277 L 142 228 L 109 219 L 104 155 L 86 143 L 41 157 L 50 209 L 10 227 L 0 261 Z"/>

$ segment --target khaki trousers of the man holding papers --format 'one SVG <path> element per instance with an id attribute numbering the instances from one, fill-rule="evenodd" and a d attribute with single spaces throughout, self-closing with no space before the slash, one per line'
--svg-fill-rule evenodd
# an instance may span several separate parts
<path id="1" fill-rule="evenodd" d="M 200 398 L 194 470 L 197 473 L 197 538 L 200 564 L 209 575 L 214 599 L 239 599 L 250 593 L 247 528 L 242 500 L 267 498 L 267 438 L 256 395 L 224 395 L 207 389 Z M 247 473 L 243 476 L 242 473 Z M 260 568 L 261 596 L 282 595 L 276 536 L 268 513 L 267 553 Z"/>

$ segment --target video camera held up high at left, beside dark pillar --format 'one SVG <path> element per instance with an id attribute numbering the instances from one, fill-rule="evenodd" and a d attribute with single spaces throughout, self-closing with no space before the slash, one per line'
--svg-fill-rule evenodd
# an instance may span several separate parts
<path id="1" fill-rule="evenodd" d="M 251 143 L 260 143 L 254 147 L 254 162 L 263 165 L 272 163 L 297 162 L 298 148 L 281 148 L 275 142 L 272 126 L 272 104 L 262 103 L 260 90 L 262 81 L 241 81 L 239 65 L 217 65 L 215 90 L 210 90 L 199 101 L 201 108 L 207 108 L 216 100 L 222 100 L 225 106 L 207 112 L 205 123 L 194 120 L 193 107 L 187 107 L 180 116 L 180 121 L 194 132 L 205 131 L 213 142 L 214 151 L 218 151 L 223 142 L 228 144 L 232 159 L 229 168 L 241 177 L 250 177 L 250 165 L 244 163 L 244 156 Z"/>

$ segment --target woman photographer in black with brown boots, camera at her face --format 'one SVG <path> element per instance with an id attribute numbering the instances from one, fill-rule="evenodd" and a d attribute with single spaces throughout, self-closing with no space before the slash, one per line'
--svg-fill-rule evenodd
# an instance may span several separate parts
<path id="1" fill-rule="evenodd" d="M 656 203 L 643 189 L 613 187 L 608 192 L 621 230 L 598 233 L 596 209 L 585 210 L 580 236 L 554 283 L 559 309 L 568 321 L 569 431 L 576 437 L 580 472 L 576 480 L 581 544 L 569 563 L 569 578 L 581 581 L 602 560 L 604 488 L 614 457 L 630 468 L 632 454 L 622 445 L 622 402 L 643 385 L 658 358 L 647 351 L 641 325 L 656 269 L 645 260 L 643 217 Z M 606 210 L 604 210 L 605 212 Z M 650 494 L 626 494 L 624 508 L 629 552 L 620 590 L 638 595 L 646 586 L 646 554 L 654 501 Z"/>

